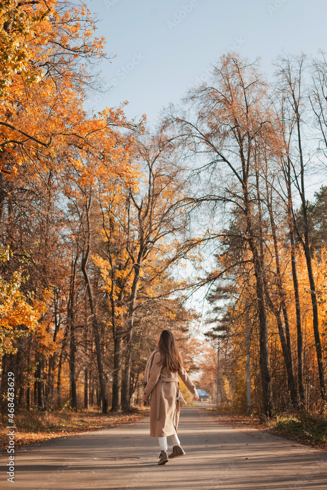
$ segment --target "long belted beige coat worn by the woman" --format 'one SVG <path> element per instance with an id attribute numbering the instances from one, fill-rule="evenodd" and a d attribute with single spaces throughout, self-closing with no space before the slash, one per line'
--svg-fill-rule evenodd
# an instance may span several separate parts
<path id="1" fill-rule="evenodd" d="M 149 380 L 143 393 L 144 400 L 148 400 L 151 393 L 151 437 L 171 436 L 177 432 L 180 408 L 179 401 L 176 403 L 178 388 L 177 374 L 188 390 L 192 394 L 195 394 L 196 389 L 184 368 L 181 368 L 178 372 L 172 372 L 168 368 L 163 368 L 160 352 L 154 354 Z"/>

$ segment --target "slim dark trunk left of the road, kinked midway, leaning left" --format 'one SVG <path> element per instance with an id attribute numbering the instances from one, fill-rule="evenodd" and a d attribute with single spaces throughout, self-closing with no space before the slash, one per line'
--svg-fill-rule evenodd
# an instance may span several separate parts
<path id="1" fill-rule="evenodd" d="M 102 402 L 102 413 L 106 414 L 108 411 L 108 399 L 107 399 L 107 392 L 106 392 L 106 379 L 105 379 L 105 374 L 104 374 L 104 370 L 103 370 L 103 363 L 102 363 L 101 344 L 100 344 L 100 337 L 99 337 L 99 325 L 98 325 L 98 319 L 97 319 L 97 314 L 96 314 L 96 306 L 95 306 L 95 300 L 94 300 L 92 285 L 91 285 L 91 281 L 90 281 L 88 271 L 86 268 L 88 260 L 89 260 L 89 255 L 90 255 L 90 241 L 91 241 L 90 208 L 91 208 L 91 196 L 89 197 L 88 201 L 87 200 L 85 201 L 85 211 L 86 211 L 85 216 L 86 216 L 86 224 L 87 224 L 86 250 L 83 251 L 83 258 L 82 258 L 82 262 L 81 262 L 81 270 L 83 272 L 83 276 L 85 279 L 85 284 L 86 284 L 86 289 L 87 289 L 87 294 L 88 294 L 89 304 L 90 304 L 90 310 L 91 310 L 91 315 L 92 315 L 92 327 L 93 327 L 94 340 L 95 340 L 95 346 L 96 346 L 96 352 L 97 352 L 97 361 L 98 361 L 99 383 L 100 383 L 101 402 Z"/>

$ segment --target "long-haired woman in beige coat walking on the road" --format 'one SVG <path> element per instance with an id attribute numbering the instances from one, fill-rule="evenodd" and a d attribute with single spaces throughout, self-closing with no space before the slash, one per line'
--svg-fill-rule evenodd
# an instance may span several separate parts
<path id="1" fill-rule="evenodd" d="M 161 453 L 158 465 L 165 465 L 169 458 L 184 456 L 185 452 L 180 446 L 177 437 L 179 418 L 179 383 L 177 374 L 194 397 L 199 399 L 198 392 L 189 375 L 183 368 L 183 361 L 177 349 L 176 341 L 170 330 L 162 330 L 158 339 L 158 348 L 155 349 L 146 368 L 149 378 L 144 389 L 144 401 L 151 401 L 150 408 L 150 436 L 157 437 Z M 167 436 L 173 442 L 173 451 L 168 456 Z"/>

